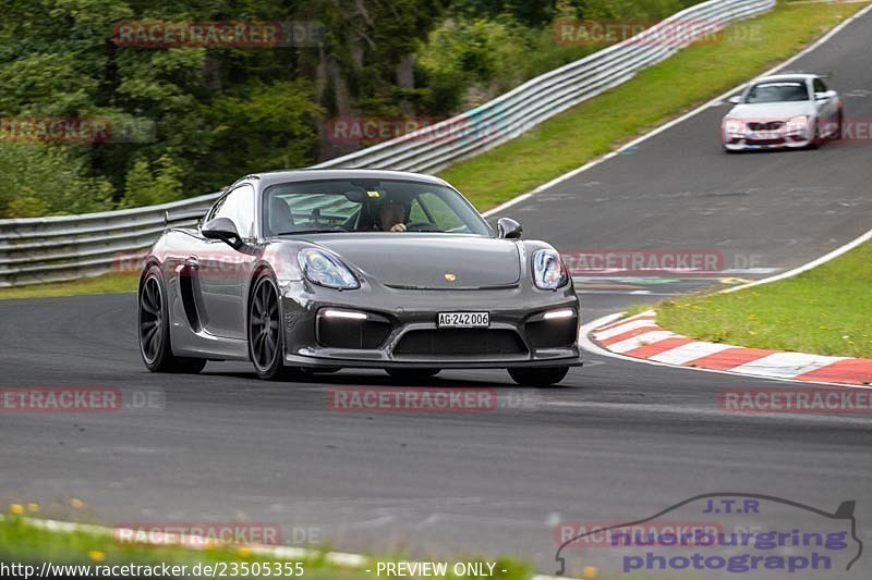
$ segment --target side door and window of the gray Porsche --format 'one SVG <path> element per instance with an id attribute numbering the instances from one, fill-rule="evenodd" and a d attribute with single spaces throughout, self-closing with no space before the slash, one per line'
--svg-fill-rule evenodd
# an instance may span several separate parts
<path id="1" fill-rule="evenodd" d="M 210 334 L 244 340 L 245 288 L 256 259 L 254 242 L 254 187 L 242 184 L 213 207 L 207 220 L 228 218 L 237 226 L 243 244 L 234 248 L 219 239 L 206 239 L 205 248 L 191 259 L 196 263 L 204 328 Z"/>

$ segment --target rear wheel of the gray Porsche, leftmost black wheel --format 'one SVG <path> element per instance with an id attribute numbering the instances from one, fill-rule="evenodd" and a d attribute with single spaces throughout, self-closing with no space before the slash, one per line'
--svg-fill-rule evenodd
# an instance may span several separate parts
<path id="1" fill-rule="evenodd" d="M 140 284 L 140 355 L 152 372 L 196 374 L 206 366 L 204 358 L 177 357 L 170 344 L 169 307 L 160 268 L 150 266 Z"/>

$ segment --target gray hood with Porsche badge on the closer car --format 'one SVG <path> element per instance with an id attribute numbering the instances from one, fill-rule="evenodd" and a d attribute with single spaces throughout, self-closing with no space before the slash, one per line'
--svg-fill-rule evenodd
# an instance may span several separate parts
<path id="1" fill-rule="evenodd" d="M 382 284 L 415 289 L 513 286 L 518 247 L 508 239 L 450 234 L 319 235 L 318 246 Z M 452 277 L 453 281 L 449 280 Z"/>

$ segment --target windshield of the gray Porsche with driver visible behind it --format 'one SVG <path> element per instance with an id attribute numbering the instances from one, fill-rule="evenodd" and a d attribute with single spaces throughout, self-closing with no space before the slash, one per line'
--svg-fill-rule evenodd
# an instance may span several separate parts
<path id="1" fill-rule="evenodd" d="M 433 232 L 489 236 L 479 213 L 450 187 L 401 180 L 318 180 L 270 186 L 264 232 Z"/>

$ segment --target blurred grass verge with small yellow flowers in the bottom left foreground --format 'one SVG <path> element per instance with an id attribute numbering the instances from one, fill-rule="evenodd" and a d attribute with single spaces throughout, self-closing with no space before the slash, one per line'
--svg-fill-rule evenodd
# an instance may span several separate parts
<path id="1" fill-rule="evenodd" d="M 53 523 L 52 523 L 53 525 Z M 49 572 L 49 578 L 95 577 L 100 578 L 290 578 L 303 576 L 315 579 L 362 580 L 376 577 L 377 563 L 402 562 L 401 557 L 366 557 L 365 564 L 340 562 L 328 552 L 296 551 L 298 554 L 276 554 L 256 548 L 232 545 L 216 545 L 204 548 L 180 546 L 124 546 L 119 545 L 108 528 L 86 527 L 85 529 L 59 531 L 46 529 L 44 520 L 7 515 L 0 519 L 0 563 L 34 566 L 39 573 L 43 563 L 55 566 L 90 566 L 92 573 L 68 568 Z M 290 548 L 287 552 L 293 551 Z M 305 553 L 305 554 L 302 554 Z M 445 560 L 440 560 L 445 562 Z M 526 564 L 509 558 L 488 560 L 487 558 L 458 558 L 457 562 L 492 562 L 494 576 L 501 580 L 526 580 L 532 577 Z M 299 566 L 295 566 L 299 563 Z M 148 567 L 185 566 L 182 572 L 153 575 L 132 566 Z M 111 575 L 93 573 L 95 567 L 131 566 L 126 571 L 117 568 Z M 198 568 L 197 568 L 198 566 Z M 210 567 L 207 569 L 206 567 Z M 367 572 L 366 569 L 372 569 Z M 451 566 L 448 566 L 450 570 Z M 502 572 L 501 570 L 506 570 Z M 213 573 L 215 570 L 215 573 Z M 300 571 L 303 571 L 301 575 Z M 140 573 L 136 573 L 136 572 Z M 221 572 L 225 572 L 223 575 Z M 279 573 L 279 571 L 281 573 Z M 51 573 L 53 572 L 53 573 Z M 126 573 L 130 572 L 130 573 Z M 180 572 L 180 573 L 177 573 Z M 383 572 L 384 576 L 384 572 Z M 23 577 L 23 576 L 22 576 Z M 440 578 L 477 578 L 477 576 L 447 575 Z"/>

